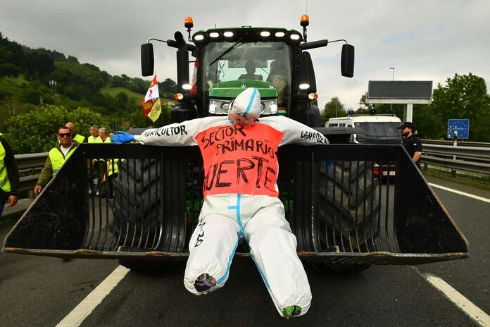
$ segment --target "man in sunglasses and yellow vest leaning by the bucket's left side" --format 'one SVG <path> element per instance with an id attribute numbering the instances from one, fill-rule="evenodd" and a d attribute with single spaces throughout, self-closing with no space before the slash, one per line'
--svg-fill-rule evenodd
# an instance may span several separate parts
<path id="1" fill-rule="evenodd" d="M 66 126 L 58 128 L 56 137 L 59 144 L 49 151 L 48 159 L 46 159 L 41 175 L 39 175 L 37 184 L 34 187 L 34 195 L 39 195 L 51 178 L 58 173 L 65 161 L 73 154 L 78 145 L 77 141 L 72 140 L 72 132 Z"/>

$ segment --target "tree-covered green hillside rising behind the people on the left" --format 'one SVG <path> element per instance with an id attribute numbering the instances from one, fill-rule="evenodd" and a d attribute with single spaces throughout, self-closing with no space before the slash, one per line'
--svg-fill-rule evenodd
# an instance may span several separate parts
<path id="1" fill-rule="evenodd" d="M 169 124 L 175 82 L 158 83 L 166 105 L 155 122 L 141 108 L 149 85 L 56 50 L 25 47 L 0 32 L 0 132 L 16 154 L 47 151 L 56 128 L 67 121 L 84 136 L 93 124 L 109 130 Z"/>

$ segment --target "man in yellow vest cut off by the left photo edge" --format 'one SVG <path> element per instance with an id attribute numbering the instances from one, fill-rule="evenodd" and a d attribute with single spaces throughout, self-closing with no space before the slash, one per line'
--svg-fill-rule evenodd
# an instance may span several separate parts
<path id="1" fill-rule="evenodd" d="M 0 133 L 0 216 L 5 202 L 15 206 L 19 195 L 19 171 L 12 149 Z"/>

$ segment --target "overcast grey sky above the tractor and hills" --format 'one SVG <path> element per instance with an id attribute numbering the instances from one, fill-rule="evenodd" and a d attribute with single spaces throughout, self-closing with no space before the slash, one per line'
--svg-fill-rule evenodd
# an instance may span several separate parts
<path id="1" fill-rule="evenodd" d="M 347 39 L 356 47 L 353 78 L 340 75 L 341 44 L 310 50 L 320 106 L 332 97 L 353 109 L 368 80 L 433 80 L 474 73 L 490 82 L 490 1 L 125 1 L 1 0 L 0 32 L 30 47 L 56 49 L 112 75 L 142 77 L 139 46 L 149 37 L 241 25 L 301 30 L 308 40 Z M 176 80 L 175 49 L 156 44 L 158 80 Z"/>

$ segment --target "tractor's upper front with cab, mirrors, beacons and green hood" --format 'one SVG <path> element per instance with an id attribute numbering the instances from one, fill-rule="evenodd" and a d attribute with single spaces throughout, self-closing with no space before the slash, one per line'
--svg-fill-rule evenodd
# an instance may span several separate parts
<path id="1" fill-rule="evenodd" d="M 320 111 L 315 71 L 308 49 L 326 47 L 344 39 L 306 42 L 308 16 L 301 18 L 303 34 L 277 27 L 233 27 L 199 30 L 186 18 L 188 41 L 180 32 L 175 40 L 149 39 L 142 45 L 142 75 L 153 74 L 153 44 L 162 41 L 177 48 L 177 87 L 179 101 L 172 109 L 172 122 L 226 115 L 231 101 L 246 87 L 256 87 L 262 101 L 262 114 L 284 115 L 311 127 L 320 127 Z M 192 43 L 188 43 L 192 42 Z M 189 60 L 189 53 L 192 57 Z M 354 49 L 344 44 L 341 73 L 353 76 Z M 194 63 L 189 80 L 189 63 Z"/>

